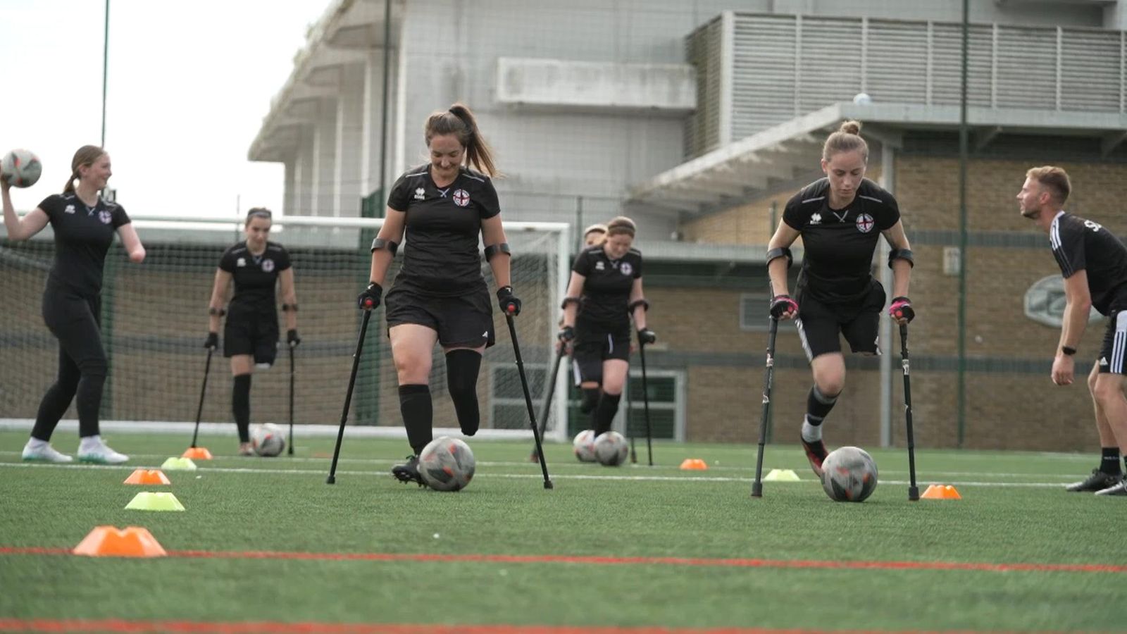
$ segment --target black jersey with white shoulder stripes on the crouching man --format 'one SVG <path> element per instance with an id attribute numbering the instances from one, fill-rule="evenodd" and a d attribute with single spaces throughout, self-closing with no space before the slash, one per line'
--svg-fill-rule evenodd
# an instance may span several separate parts
<path id="1" fill-rule="evenodd" d="M 1092 306 L 1101 315 L 1127 308 L 1127 247 L 1111 231 L 1061 211 L 1049 227 L 1049 245 L 1063 276 L 1086 271 Z"/>

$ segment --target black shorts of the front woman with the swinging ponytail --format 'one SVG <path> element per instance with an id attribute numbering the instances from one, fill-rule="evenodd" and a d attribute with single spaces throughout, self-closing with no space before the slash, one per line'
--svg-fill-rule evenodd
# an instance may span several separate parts
<path id="1" fill-rule="evenodd" d="M 438 333 L 443 347 L 486 347 L 496 343 L 489 289 L 455 297 L 435 297 L 409 284 L 396 283 L 383 298 L 388 328 L 418 324 Z"/>

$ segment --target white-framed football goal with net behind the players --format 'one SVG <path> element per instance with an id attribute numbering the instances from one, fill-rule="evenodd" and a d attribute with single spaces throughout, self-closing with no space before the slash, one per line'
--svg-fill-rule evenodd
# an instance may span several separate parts
<path id="1" fill-rule="evenodd" d="M 212 283 L 220 255 L 243 239 L 241 223 L 133 218 L 148 253 L 144 263 L 130 264 L 116 240 L 106 258 L 101 336 L 110 369 L 101 420 L 194 422 L 207 356 L 203 343 Z M 360 218 L 275 219 L 270 240 L 290 252 L 301 307 L 302 343 L 294 351 L 296 424 L 339 423 L 362 320 L 356 296 L 367 284 L 369 245 L 381 223 Z M 507 222 L 505 230 L 513 249 L 513 287 L 523 302 L 516 332 L 539 419 L 568 278 L 569 227 Z M 24 243 L 0 239 L 0 297 L 7 303 L 0 332 L 0 412 L 8 419 L 34 419 L 39 398 L 55 378 L 59 347 L 41 316 L 53 253 L 50 227 Z M 387 288 L 401 261 L 402 253 L 389 271 Z M 481 270 L 492 290 L 492 273 L 485 262 Z M 277 360 L 273 368 L 254 373 L 252 423 L 289 422 L 290 352 L 281 310 L 278 318 Z M 508 326 L 496 307 L 494 327 L 497 345 L 486 351 L 478 381 L 481 435 L 531 437 Z M 564 440 L 567 372 L 559 375 L 545 437 Z M 435 428 L 456 429 L 445 359 L 437 346 L 431 391 Z M 64 420 L 74 417 L 72 405 Z M 230 364 L 220 353 L 211 360 L 202 421 L 232 421 Z M 369 323 L 348 423 L 388 428 L 389 433 L 402 428 L 382 306 Z M 233 433 L 233 424 L 230 430 Z"/>

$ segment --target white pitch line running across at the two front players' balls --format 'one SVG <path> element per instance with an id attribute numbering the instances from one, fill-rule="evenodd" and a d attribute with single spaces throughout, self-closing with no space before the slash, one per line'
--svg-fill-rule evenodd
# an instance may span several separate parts
<path id="1" fill-rule="evenodd" d="M 55 464 L 42 464 L 42 463 L 0 463 L 0 467 L 28 467 L 28 468 L 57 468 L 57 469 L 112 469 L 112 470 L 130 470 L 134 468 L 159 468 L 156 466 L 137 466 L 137 465 L 55 465 Z M 322 469 L 256 469 L 248 467 L 205 467 L 199 468 L 195 472 L 190 470 L 171 470 L 176 475 L 183 474 L 272 474 L 272 475 L 325 475 L 326 472 Z M 384 472 L 352 472 L 352 470 L 337 470 L 338 474 L 344 475 L 361 475 L 361 476 L 383 476 Z M 505 473 L 477 473 L 474 477 L 486 477 L 486 478 L 531 478 L 539 479 L 543 476 L 541 474 L 505 474 Z M 557 474 L 553 476 L 554 479 L 593 479 L 593 481 L 623 481 L 623 482 L 743 482 L 749 483 L 753 478 L 749 477 L 729 477 L 729 476 L 641 476 L 641 475 L 593 475 L 593 474 Z M 815 484 L 815 479 L 804 479 L 800 483 Z M 903 485 L 908 484 L 907 481 L 898 479 L 882 479 L 881 483 L 886 485 Z M 780 483 L 788 484 L 788 483 Z M 924 482 L 920 482 L 921 485 L 926 485 Z M 957 486 L 1004 486 L 1004 487 L 1035 487 L 1035 488 L 1049 488 L 1049 487 L 1062 487 L 1065 482 L 975 482 L 975 481 L 948 481 L 943 484 L 951 484 Z"/>

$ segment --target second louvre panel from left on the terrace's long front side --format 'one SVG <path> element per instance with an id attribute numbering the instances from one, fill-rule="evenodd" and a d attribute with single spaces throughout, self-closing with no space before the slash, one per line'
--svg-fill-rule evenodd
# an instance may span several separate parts
<path id="1" fill-rule="evenodd" d="M 861 90 L 861 20 L 802 18 L 799 112 L 848 102 Z"/>

